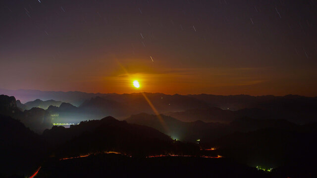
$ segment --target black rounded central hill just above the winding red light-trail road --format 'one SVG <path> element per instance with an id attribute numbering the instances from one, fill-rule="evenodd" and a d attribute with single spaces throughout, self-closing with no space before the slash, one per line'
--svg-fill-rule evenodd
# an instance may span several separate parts
<path id="1" fill-rule="evenodd" d="M 43 138 L 56 148 L 57 157 L 105 151 L 139 156 L 196 154 L 199 151 L 195 144 L 175 143 L 153 128 L 128 124 L 110 116 L 81 122 L 69 129 L 54 126 L 43 133 Z"/>

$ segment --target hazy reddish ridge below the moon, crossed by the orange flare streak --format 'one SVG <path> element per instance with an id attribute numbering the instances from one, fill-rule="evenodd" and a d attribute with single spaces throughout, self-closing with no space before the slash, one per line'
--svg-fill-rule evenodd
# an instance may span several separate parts
<path id="1" fill-rule="evenodd" d="M 187 96 L 164 95 L 159 93 L 145 94 L 151 101 L 151 104 L 155 106 L 155 110 L 159 113 L 182 111 L 196 107 L 208 107 L 205 103 Z M 70 103 L 68 103 L 68 105 L 69 104 Z M 64 105 L 64 103 L 62 103 L 60 106 L 62 105 Z M 71 108 L 65 108 L 64 106 L 62 109 L 53 109 L 53 107 L 48 108 L 48 111 L 59 114 L 59 118 L 67 119 L 70 117 L 78 117 L 77 122 L 89 119 L 100 119 L 105 116 L 114 116 L 122 120 L 132 114 L 138 114 L 141 112 L 154 114 L 155 110 L 150 106 L 148 101 L 141 93 L 113 95 L 111 97 L 96 96 L 85 100 L 78 107 L 72 105 Z M 61 115 L 63 115 L 63 117 L 61 117 Z"/>

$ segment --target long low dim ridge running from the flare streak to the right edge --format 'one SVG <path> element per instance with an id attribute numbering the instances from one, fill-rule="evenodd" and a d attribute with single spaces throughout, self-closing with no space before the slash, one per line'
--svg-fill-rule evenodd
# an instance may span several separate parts
<path id="1" fill-rule="evenodd" d="M 201 120 L 204 122 L 230 123 L 235 119 L 249 117 L 253 119 L 284 119 L 298 124 L 317 121 L 317 110 L 313 107 L 303 108 L 303 103 L 296 103 L 289 107 L 285 104 L 272 104 L 270 107 L 246 108 L 236 111 L 222 110 L 217 107 L 189 109 L 186 111 L 165 113 L 184 122 Z M 315 103 L 312 103 L 312 105 Z M 300 108 L 294 108 L 300 107 Z M 317 107 L 317 106 L 316 106 Z"/>

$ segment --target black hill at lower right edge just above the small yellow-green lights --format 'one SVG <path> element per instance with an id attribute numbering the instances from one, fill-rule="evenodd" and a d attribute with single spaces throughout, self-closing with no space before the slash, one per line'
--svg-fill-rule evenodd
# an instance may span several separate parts
<path id="1" fill-rule="evenodd" d="M 295 128 L 235 132 L 220 137 L 209 146 L 217 147 L 223 156 L 253 167 L 297 167 L 313 173 L 317 166 L 316 140 L 317 124 L 312 123 Z"/>

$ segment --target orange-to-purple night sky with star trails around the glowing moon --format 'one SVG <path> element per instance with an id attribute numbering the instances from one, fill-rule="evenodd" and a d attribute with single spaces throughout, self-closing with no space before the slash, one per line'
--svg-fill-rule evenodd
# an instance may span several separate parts
<path id="1" fill-rule="evenodd" d="M 317 0 L 1 0 L 0 88 L 316 96 Z"/>

